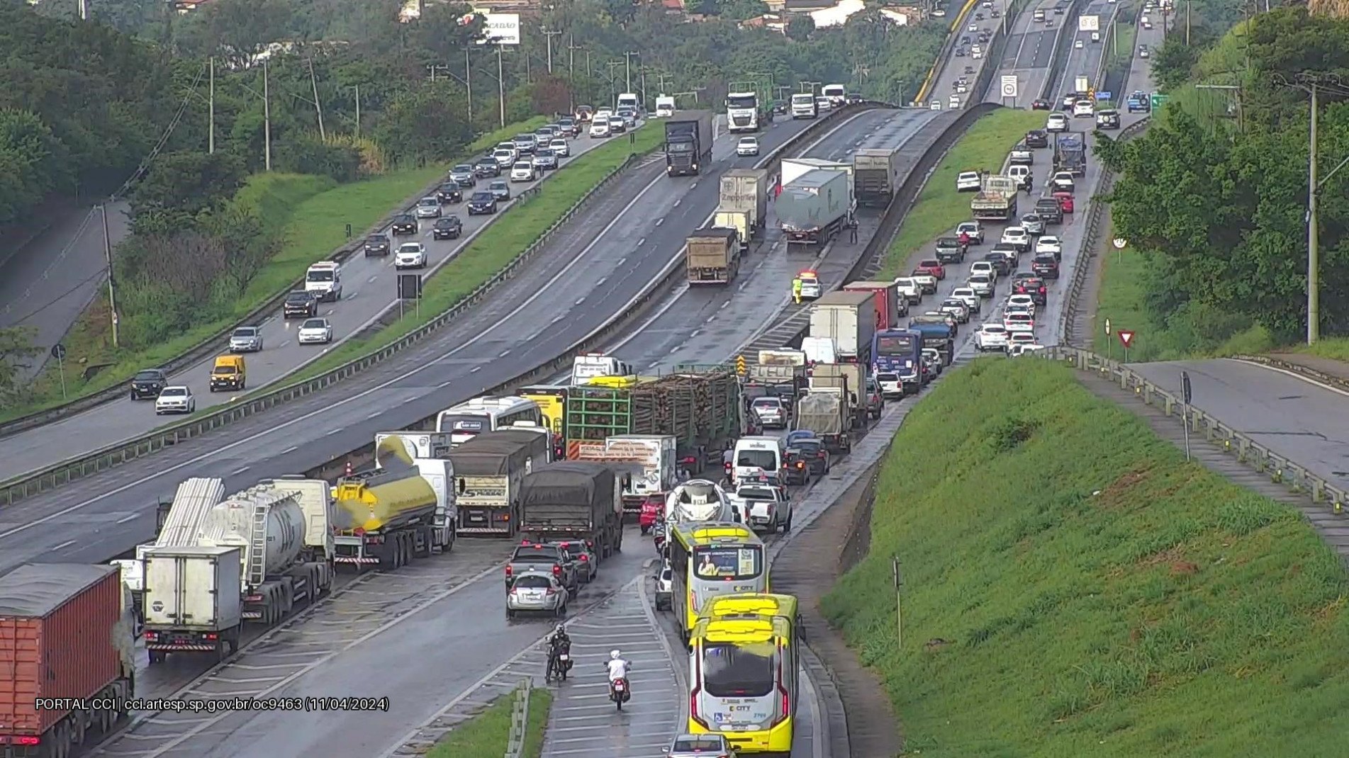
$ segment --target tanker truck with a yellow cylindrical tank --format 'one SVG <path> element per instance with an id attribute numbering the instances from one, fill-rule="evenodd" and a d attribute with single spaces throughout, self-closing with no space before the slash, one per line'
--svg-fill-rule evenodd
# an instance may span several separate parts
<path id="1" fill-rule="evenodd" d="M 397 437 L 376 445 L 380 468 L 337 480 L 333 488 L 333 561 L 395 569 L 430 556 L 436 490 Z"/>

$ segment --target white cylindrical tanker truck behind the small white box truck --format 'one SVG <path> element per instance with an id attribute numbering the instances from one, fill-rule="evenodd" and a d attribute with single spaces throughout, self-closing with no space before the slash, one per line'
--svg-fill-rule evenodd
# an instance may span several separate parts
<path id="1" fill-rule="evenodd" d="M 304 494 L 283 486 L 252 487 L 225 498 L 201 523 L 197 545 L 239 548 L 241 616 L 272 626 L 298 603 L 332 587 L 332 564 L 306 545 Z"/>

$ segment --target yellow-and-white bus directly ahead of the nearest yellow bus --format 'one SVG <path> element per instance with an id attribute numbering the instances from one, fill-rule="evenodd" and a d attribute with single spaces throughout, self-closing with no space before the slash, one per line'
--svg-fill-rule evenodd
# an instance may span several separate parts
<path id="1" fill-rule="evenodd" d="M 669 560 L 674 572 L 672 610 L 684 642 L 711 597 L 768 592 L 764 541 L 742 523 L 677 523 L 670 530 Z"/>

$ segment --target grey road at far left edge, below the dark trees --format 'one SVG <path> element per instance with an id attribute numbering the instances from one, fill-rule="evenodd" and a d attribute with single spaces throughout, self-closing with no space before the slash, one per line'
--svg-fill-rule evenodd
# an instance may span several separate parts
<path id="1" fill-rule="evenodd" d="M 105 293 L 108 270 L 103 245 L 103 217 L 77 206 L 54 218 L 40 235 L 0 260 L 0 329 L 24 326 L 34 330 L 32 344 L 42 355 L 28 360 L 20 376 L 28 379 L 42 370 L 51 345 L 94 297 Z M 131 227 L 127 202 L 108 204 L 108 239 L 117 244 Z M 0 479 L 5 475 L 0 473 Z"/>

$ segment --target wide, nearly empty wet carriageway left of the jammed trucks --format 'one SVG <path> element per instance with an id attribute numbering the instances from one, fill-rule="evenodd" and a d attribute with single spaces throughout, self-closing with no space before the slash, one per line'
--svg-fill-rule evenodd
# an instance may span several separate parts
<path id="1" fill-rule="evenodd" d="M 855 119 L 876 117 L 857 115 Z M 809 121 L 786 121 L 764 135 L 782 144 Z M 851 125 L 839 128 L 847 132 Z M 734 144 L 715 146 L 715 171 L 749 166 Z M 553 239 L 550 266 L 529 266 L 456 326 L 368 374 L 278 407 L 219 434 L 175 445 L 0 513 L 0 571 L 30 560 L 97 562 L 146 540 L 158 498 L 186 476 L 220 476 L 231 491 L 308 471 L 359 449 L 376 432 L 403 429 L 483 394 L 579 341 L 635 297 L 679 248 L 654 251 L 660 228 L 677 239 L 718 201 L 707 177 L 666 178 L 653 165 L 610 187 L 587 218 Z M 545 345 L 537 349 L 537 345 Z M 541 356 L 540 352 L 546 353 Z"/>

